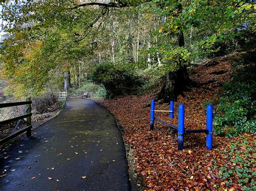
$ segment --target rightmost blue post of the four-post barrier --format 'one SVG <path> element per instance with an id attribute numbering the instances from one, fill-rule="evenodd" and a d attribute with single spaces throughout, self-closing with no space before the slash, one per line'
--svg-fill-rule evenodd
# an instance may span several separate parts
<path id="1" fill-rule="evenodd" d="M 212 150 L 212 105 L 206 108 L 206 129 L 209 131 L 206 135 L 206 148 Z"/>

